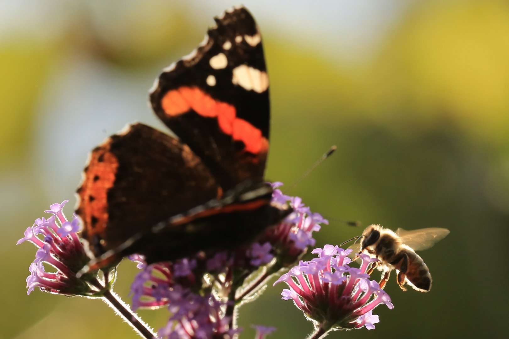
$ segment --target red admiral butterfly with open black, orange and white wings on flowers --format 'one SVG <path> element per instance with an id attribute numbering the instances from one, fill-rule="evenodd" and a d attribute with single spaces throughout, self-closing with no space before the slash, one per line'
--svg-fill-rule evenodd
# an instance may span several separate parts
<path id="1" fill-rule="evenodd" d="M 215 21 L 150 92 L 179 139 L 134 124 L 92 150 L 76 209 L 97 257 L 86 269 L 132 253 L 152 263 L 234 248 L 291 212 L 271 204 L 263 182 L 270 108 L 260 32 L 243 7 Z"/>

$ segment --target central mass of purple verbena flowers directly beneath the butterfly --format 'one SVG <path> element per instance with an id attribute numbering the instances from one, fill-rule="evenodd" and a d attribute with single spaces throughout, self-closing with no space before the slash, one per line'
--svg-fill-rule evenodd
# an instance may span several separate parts
<path id="1" fill-rule="evenodd" d="M 320 229 L 320 223 L 327 223 L 320 214 L 310 212 L 300 198 L 282 194 L 277 189 L 279 186 L 280 182 L 273 184 L 272 201 L 278 204 L 290 202 L 294 212 L 281 224 L 268 229 L 260 242 L 248 248 L 199 253 L 192 258 L 151 265 L 146 265 L 142 256 L 131 256 L 142 269 L 131 286 L 132 309 L 167 306 L 172 316 L 159 330 L 159 335 L 168 339 L 231 337 L 239 332 L 234 329 L 231 313 L 227 314 L 225 310 L 233 309 L 244 296 L 258 291 L 266 278 L 279 268 L 293 265 L 308 245 L 315 244 L 313 231 Z M 242 286 L 249 274 L 267 264 L 274 270 L 260 280 L 254 279 L 252 288 Z M 208 283 L 204 285 L 204 281 Z M 249 292 L 239 297 L 236 289 L 240 287 Z M 257 337 L 263 338 L 272 330 L 260 327 Z"/>

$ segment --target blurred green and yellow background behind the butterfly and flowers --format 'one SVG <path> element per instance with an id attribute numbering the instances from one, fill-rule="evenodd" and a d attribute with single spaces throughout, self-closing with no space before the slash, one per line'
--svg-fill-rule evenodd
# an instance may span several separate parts
<path id="1" fill-rule="evenodd" d="M 164 129 L 147 106 L 162 67 L 202 40 L 228 1 L 0 1 L 0 338 L 136 338 L 99 300 L 35 291 L 35 247 L 15 246 L 54 202 L 71 200 L 87 152 L 127 122 Z M 446 227 L 422 252 L 429 293 L 376 309 L 375 330 L 331 338 L 496 338 L 508 319 L 509 4 L 506 1 L 245 1 L 258 19 L 271 79 L 269 180 L 287 186 L 332 144 L 299 186 L 331 219 L 317 245 L 361 229 Z M 136 272 L 123 262 L 126 301 Z M 240 310 L 271 338 L 311 324 L 284 288 Z M 140 315 L 156 329 L 165 310 Z"/>

